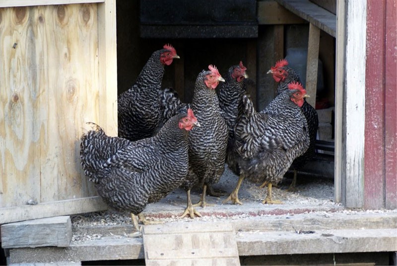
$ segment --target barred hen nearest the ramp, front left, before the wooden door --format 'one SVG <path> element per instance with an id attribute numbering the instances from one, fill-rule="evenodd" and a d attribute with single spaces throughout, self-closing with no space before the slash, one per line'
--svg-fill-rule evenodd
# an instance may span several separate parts
<path id="1" fill-rule="evenodd" d="M 145 223 L 142 210 L 179 187 L 188 174 L 188 132 L 199 126 L 191 109 L 165 123 L 151 138 L 129 141 L 108 137 L 101 128 L 81 137 L 84 174 L 110 206 L 130 211 Z M 194 131 L 194 130 L 193 130 Z"/>

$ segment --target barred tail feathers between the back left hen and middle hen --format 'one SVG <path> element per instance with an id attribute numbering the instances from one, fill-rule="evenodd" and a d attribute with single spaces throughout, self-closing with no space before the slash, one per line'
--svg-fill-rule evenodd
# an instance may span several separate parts
<path id="1" fill-rule="evenodd" d="M 164 124 L 172 116 L 186 113 L 191 108 L 189 103 L 180 100 L 178 93 L 172 88 L 160 89 L 158 92 L 161 122 Z"/>

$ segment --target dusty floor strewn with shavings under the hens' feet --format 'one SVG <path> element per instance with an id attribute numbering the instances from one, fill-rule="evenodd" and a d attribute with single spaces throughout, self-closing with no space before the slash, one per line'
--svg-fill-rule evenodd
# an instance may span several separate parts
<path id="1" fill-rule="evenodd" d="M 205 208 L 196 207 L 202 217 L 195 220 L 212 219 L 235 219 L 250 216 L 279 215 L 288 213 L 307 213 L 312 211 L 335 211 L 343 209 L 340 204 L 333 202 L 333 179 L 325 177 L 311 177 L 308 175 L 298 176 L 297 190 L 294 192 L 286 191 L 292 181 L 291 175 L 286 175 L 279 184 L 273 187 L 273 199 L 279 199 L 284 204 L 268 205 L 263 204 L 266 189 L 259 188 L 258 184 L 249 181 L 243 182 L 239 198 L 243 205 L 234 205 L 230 201 L 222 203 L 224 199 L 234 189 L 238 177 L 227 167 L 219 183 L 213 187 L 217 191 L 224 191 L 221 197 L 207 196 L 207 203 L 214 206 Z M 192 191 L 192 202 L 199 201 L 200 189 Z M 186 192 L 177 189 L 159 202 L 148 204 L 143 214 L 148 220 L 160 220 L 161 222 L 189 222 L 191 218 L 178 218 L 186 207 Z M 88 213 L 72 216 L 74 228 L 79 226 L 106 226 L 106 225 L 130 225 L 131 216 L 129 213 L 119 213 L 112 210 L 105 212 Z M 79 240 L 81 236 L 75 236 Z"/>

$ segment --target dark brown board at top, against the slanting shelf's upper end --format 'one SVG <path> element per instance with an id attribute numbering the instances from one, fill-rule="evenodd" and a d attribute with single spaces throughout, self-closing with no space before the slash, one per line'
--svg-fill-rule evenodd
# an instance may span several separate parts
<path id="1" fill-rule="evenodd" d="M 257 1 L 257 5 L 259 25 L 307 23 L 306 20 L 291 13 L 276 1 L 261 0 Z"/>

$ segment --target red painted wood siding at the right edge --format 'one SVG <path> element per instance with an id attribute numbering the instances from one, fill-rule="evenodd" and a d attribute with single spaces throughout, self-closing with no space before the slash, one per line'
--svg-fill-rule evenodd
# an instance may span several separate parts
<path id="1" fill-rule="evenodd" d="M 396 0 L 367 0 L 364 207 L 396 208 Z"/>

